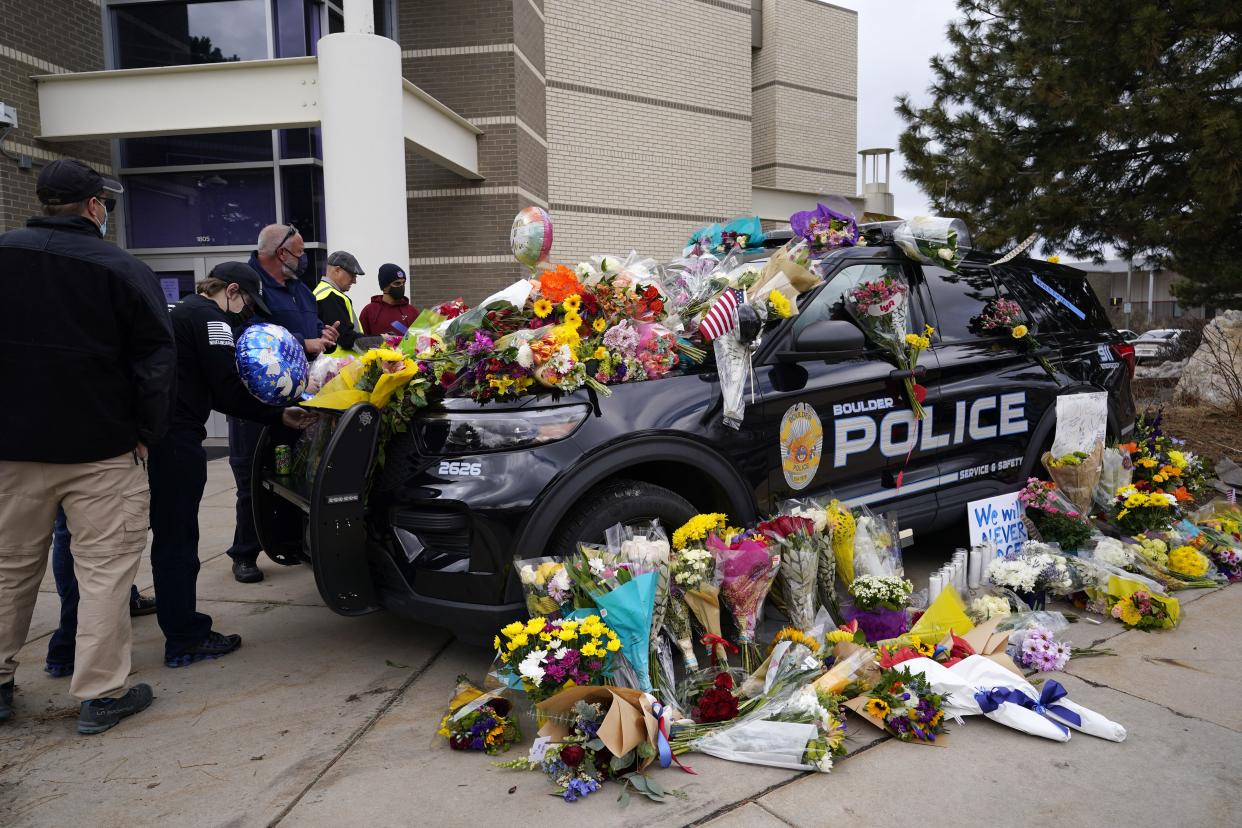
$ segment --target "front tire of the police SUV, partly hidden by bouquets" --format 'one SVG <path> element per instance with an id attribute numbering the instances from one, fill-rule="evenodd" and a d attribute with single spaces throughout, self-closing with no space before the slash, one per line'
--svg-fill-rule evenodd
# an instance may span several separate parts
<path id="1" fill-rule="evenodd" d="M 673 531 L 698 514 L 689 500 L 672 489 L 642 480 L 605 483 L 574 504 L 570 516 L 556 533 L 550 555 L 568 556 L 582 544 L 602 544 L 604 533 L 616 524 L 638 524 L 658 519 L 672 540 Z"/>

